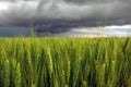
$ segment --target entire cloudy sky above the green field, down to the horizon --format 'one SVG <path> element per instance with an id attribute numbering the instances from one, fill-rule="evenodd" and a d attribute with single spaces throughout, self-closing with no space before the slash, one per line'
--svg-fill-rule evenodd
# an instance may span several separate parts
<path id="1" fill-rule="evenodd" d="M 26 33 L 31 22 L 39 35 L 94 35 L 98 26 L 123 35 L 131 28 L 131 0 L 0 0 L 0 35 Z"/>

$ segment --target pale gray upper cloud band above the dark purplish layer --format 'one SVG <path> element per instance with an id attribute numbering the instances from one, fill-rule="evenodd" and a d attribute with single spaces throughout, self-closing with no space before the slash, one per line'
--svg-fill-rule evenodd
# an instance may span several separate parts
<path id="1" fill-rule="evenodd" d="M 9 17 L 16 16 L 14 18 L 81 20 L 131 17 L 131 0 L 36 0 L 37 4 L 35 7 L 33 7 L 32 2 L 11 3 L 4 14 L 10 15 Z"/>

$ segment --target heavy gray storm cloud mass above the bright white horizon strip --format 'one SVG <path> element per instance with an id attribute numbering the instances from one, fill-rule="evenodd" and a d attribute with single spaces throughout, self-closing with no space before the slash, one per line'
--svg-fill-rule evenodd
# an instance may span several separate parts
<path id="1" fill-rule="evenodd" d="M 62 27 L 66 32 L 79 26 L 127 25 L 131 24 L 131 0 L 0 0 L 0 25 L 27 26 L 31 21 L 52 33 Z"/>

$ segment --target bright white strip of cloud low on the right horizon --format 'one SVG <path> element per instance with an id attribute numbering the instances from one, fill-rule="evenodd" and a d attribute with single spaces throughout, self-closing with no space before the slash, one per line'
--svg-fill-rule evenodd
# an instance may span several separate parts
<path id="1" fill-rule="evenodd" d="M 96 36 L 128 36 L 131 35 L 131 25 L 112 25 L 106 27 L 78 27 L 71 28 L 70 32 L 63 33 L 63 36 L 82 36 L 82 37 L 96 37 Z"/>

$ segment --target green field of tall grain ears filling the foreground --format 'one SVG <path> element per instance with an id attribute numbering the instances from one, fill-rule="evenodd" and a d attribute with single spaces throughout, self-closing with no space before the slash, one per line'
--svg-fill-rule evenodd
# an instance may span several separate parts
<path id="1" fill-rule="evenodd" d="M 131 38 L 0 38 L 0 87 L 131 87 Z"/>

